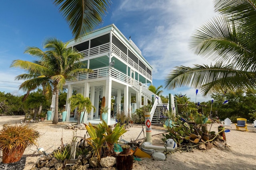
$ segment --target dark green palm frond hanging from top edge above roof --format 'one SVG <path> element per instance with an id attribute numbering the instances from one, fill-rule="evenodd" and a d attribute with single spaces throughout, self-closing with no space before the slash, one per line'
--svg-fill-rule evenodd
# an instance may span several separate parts
<path id="1" fill-rule="evenodd" d="M 102 17 L 107 13 L 110 0 L 54 0 L 55 6 L 60 6 L 59 12 L 68 22 L 74 38 L 91 32 L 102 23 Z"/>

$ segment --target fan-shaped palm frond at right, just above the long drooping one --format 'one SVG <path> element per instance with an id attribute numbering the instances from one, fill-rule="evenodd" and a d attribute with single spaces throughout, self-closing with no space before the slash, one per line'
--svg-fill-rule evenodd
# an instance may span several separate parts
<path id="1" fill-rule="evenodd" d="M 224 16 L 215 17 L 202 25 L 190 37 L 189 47 L 196 55 L 217 62 L 225 62 L 248 70 L 256 68 L 254 51 L 247 47 L 244 31 Z"/>

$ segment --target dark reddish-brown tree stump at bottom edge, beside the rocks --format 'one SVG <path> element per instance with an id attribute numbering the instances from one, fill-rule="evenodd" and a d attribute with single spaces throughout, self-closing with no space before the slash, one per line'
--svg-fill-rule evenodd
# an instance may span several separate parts
<path id="1" fill-rule="evenodd" d="M 130 151 L 128 154 L 119 154 L 116 158 L 117 170 L 132 170 L 133 153 Z"/>

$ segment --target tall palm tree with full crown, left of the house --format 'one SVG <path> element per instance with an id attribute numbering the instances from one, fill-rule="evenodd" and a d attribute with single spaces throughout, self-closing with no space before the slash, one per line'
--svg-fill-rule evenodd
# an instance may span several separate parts
<path id="1" fill-rule="evenodd" d="M 52 123 L 58 123 L 58 94 L 62 90 L 66 80 L 75 80 L 78 73 L 92 72 L 87 68 L 82 68 L 82 55 L 76 49 L 66 48 L 67 43 L 56 38 L 47 39 L 44 43 L 42 51 L 37 47 L 28 47 L 25 53 L 28 53 L 39 60 L 30 62 L 22 60 L 14 60 L 11 67 L 18 67 L 28 71 L 28 74 L 20 74 L 16 78 L 26 80 L 24 84 L 33 87 L 44 86 L 49 84 L 52 87 L 55 97 L 55 113 Z"/>

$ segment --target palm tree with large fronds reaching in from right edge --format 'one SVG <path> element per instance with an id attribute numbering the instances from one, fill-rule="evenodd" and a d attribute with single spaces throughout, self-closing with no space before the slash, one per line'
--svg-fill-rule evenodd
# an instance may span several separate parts
<path id="1" fill-rule="evenodd" d="M 204 95 L 256 87 L 256 2 L 214 0 L 220 16 L 206 22 L 190 38 L 196 55 L 216 64 L 177 66 L 165 80 L 165 88 L 199 88 Z"/>

